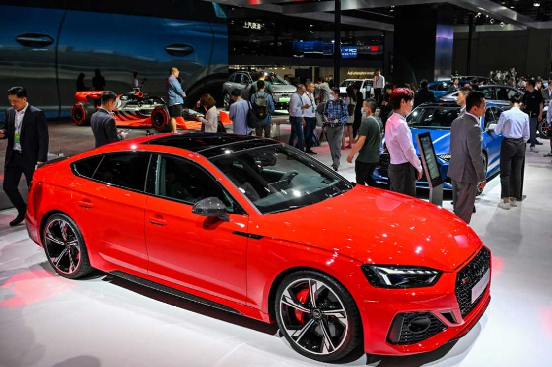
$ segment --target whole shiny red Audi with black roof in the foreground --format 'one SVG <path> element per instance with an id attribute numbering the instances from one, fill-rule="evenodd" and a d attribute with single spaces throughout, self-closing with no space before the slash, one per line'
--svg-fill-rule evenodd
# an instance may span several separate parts
<path id="1" fill-rule="evenodd" d="M 317 360 L 436 349 L 490 301 L 491 252 L 454 214 L 271 139 L 116 142 L 40 166 L 28 197 L 29 236 L 61 276 L 97 268 L 275 321 Z"/>

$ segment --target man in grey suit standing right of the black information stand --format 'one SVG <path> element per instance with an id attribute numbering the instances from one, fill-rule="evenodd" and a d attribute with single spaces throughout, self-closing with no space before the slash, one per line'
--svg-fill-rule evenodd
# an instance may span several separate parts
<path id="1" fill-rule="evenodd" d="M 450 126 L 450 163 L 454 214 L 470 223 L 477 188 L 487 184 L 481 156 L 480 117 L 485 114 L 485 94 L 471 91 L 466 97 L 466 112 Z"/>

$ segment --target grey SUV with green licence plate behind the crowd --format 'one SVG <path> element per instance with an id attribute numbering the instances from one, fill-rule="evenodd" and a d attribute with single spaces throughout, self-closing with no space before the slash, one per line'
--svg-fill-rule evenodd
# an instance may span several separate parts
<path id="1" fill-rule="evenodd" d="M 222 84 L 222 100 L 224 108 L 230 106 L 230 95 L 232 89 L 238 88 L 241 90 L 243 99 L 249 99 L 251 84 L 259 77 L 259 73 L 251 73 L 247 71 L 238 71 L 230 74 L 228 80 Z M 287 110 L 289 108 L 289 100 L 291 95 L 295 93 L 296 88 L 288 84 L 282 77 L 274 73 L 265 73 L 265 79 L 272 84 L 274 107 L 277 110 Z"/>

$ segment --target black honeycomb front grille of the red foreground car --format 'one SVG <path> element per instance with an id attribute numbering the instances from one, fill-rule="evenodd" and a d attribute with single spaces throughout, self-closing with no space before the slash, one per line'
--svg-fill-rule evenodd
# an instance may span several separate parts
<path id="1" fill-rule="evenodd" d="M 491 266 L 491 253 L 486 247 L 483 247 L 479 253 L 471 260 L 468 265 L 463 267 L 456 276 L 456 287 L 454 293 L 460 307 L 462 317 L 465 317 L 479 303 L 485 292 L 481 293 L 479 298 L 471 303 L 471 288 L 474 287 L 485 272 Z"/>

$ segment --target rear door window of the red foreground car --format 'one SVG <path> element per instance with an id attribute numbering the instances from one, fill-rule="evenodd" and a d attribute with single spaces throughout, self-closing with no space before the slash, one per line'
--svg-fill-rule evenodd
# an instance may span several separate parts
<path id="1" fill-rule="evenodd" d="M 144 191 L 150 156 L 150 153 L 143 152 L 106 154 L 92 179 L 108 185 Z"/>

